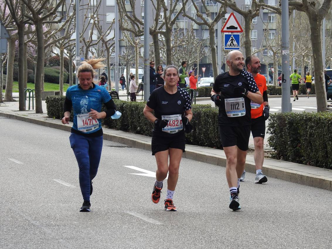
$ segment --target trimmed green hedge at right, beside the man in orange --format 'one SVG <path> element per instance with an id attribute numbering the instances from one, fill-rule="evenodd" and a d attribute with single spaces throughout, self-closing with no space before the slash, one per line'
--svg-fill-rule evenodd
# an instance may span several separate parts
<path id="1" fill-rule="evenodd" d="M 332 169 L 332 113 L 276 113 L 267 132 L 272 157 Z"/>

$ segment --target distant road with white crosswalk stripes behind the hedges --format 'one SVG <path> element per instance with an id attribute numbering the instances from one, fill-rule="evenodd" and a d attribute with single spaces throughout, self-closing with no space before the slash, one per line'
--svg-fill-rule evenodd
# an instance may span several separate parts
<path id="1" fill-rule="evenodd" d="M 292 104 L 292 112 L 317 112 L 316 97 L 298 98 L 293 101 L 294 98 L 290 98 Z M 332 101 L 328 101 L 331 103 Z M 197 101 L 196 104 L 213 104 L 212 101 Z M 214 106 L 214 105 L 213 105 Z M 281 97 L 269 98 L 270 113 L 281 113 Z"/>

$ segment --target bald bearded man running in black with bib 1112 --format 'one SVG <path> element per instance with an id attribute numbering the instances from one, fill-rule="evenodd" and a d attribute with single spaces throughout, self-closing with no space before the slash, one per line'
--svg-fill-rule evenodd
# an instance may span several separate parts
<path id="1" fill-rule="evenodd" d="M 251 129 L 250 102 L 262 104 L 263 97 L 252 74 L 243 70 L 244 57 L 240 51 L 230 51 L 226 63 L 229 71 L 216 77 L 211 100 L 219 106 L 218 126 L 226 155 L 229 208 L 235 211 L 241 209 L 238 194 Z"/>

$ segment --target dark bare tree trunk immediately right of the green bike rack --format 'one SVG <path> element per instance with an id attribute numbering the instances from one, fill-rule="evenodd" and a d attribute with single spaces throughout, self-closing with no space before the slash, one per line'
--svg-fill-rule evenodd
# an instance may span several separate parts
<path id="1" fill-rule="evenodd" d="M 43 81 L 41 79 L 42 71 L 44 68 L 44 37 L 42 30 L 42 23 L 35 22 L 36 34 L 37 34 L 37 64 L 36 64 L 36 81 L 35 81 L 35 93 L 36 93 L 36 113 L 43 113 L 41 105 L 41 91 L 43 91 Z"/>

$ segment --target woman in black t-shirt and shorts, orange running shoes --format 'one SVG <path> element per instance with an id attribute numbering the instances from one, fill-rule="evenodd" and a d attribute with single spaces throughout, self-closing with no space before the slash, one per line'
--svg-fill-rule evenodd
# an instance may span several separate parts
<path id="1" fill-rule="evenodd" d="M 154 90 L 143 110 L 144 116 L 154 123 L 151 150 L 157 161 L 156 182 L 151 195 L 152 202 L 158 203 L 163 181 L 168 175 L 165 210 L 176 211 L 173 195 L 179 177 L 182 154 L 185 151 L 185 131 L 190 131 L 193 117 L 190 97 L 187 91 L 177 87 L 178 69 L 166 67 L 165 85 Z M 152 114 L 154 111 L 154 114 Z M 169 158 L 169 164 L 168 164 Z"/>

